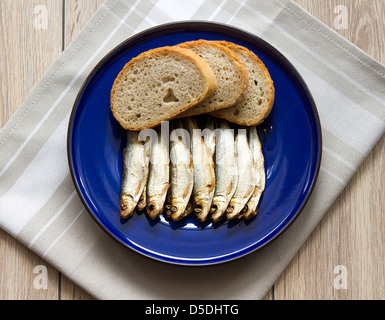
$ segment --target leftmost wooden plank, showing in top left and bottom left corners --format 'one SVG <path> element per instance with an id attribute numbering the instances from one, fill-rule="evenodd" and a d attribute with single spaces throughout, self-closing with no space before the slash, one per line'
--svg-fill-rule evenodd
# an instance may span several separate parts
<path id="1" fill-rule="evenodd" d="M 59 56 L 61 8 L 61 0 L 0 2 L 0 128 Z M 47 289 L 34 282 L 44 267 Z M 0 270 L 0 300 L 58 297 L 58 272 L 2 230 Z"/>

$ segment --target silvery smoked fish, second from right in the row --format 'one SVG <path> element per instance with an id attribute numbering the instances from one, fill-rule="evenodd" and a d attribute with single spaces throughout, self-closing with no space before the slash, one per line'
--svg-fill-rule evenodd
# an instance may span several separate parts
<path id="1" fill-rule="evenodd" d="M 227 219 L 231 220 L 245 207 L 255 189 L 255 164 L 253 154 L 247 141 L 246 129 L 239 129 L 236 137 L 238 154 L 238 185 L 229 206 L 226 209 Z"/>

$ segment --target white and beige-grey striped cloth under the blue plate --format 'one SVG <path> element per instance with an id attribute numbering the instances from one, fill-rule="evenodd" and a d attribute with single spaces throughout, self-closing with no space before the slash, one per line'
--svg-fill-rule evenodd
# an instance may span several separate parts
<path id="1" fill-rule="evenodd" d="M 204 268 L 113 241 L 75 192 L 66 130 L 98 61 L 127 37 L 210 20 L 256 34 L 299 70 L 318 106 L 323 159 L 304 212 L 264 249 Z M 0 226 L 98 299 L 262 299 L 384 133 L 385 67 L 289 0 L 107 0 L 0 131 Z"/>

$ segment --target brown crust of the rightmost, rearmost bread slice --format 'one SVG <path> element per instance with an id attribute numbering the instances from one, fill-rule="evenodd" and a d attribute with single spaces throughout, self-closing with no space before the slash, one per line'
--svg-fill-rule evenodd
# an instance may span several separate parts
<path id="1" fill-rule="evenodd" d="M 253 59 L 253 61 L 259 66 L 260 70 L 263 72 L 264 74 L 264 77 L 266 79 L 266 83 L 267 83 L 267 86 L 268 86 L 268 102 L 267 104 L 265 105 L 265 108 L 264 108 L 264 112 L 261 113 L 258 117 L 256 117 L 255 119 L 235 119 L 233 117 L 231 117 L 231 120 L 229 119 L 229 117 L 226 116 L 226 114 L 224 112 L 228 112 L 230 108 L 227 108 L 226 111 L 224 111 L 223 113 L 221 113 L 221 111 L 217 111 L 217 112 L 213 112 L 212 115 L 214 115 L 215 117 L 217 118 L 222 118 L 222 119 L 225 119 L 225 120 L 228 120 L 228 121 L 231 121 L 231 122 L 234 122 L 234 123 L 237 123 L 239 125 L 245 125 L 245 126 L 252 126 L 252 125 L 258 125 L 260 123 L 263 122 L 264 119 L 266 119 L 272 108 L 273 108 L 273 105 L 274 105 L 274 98 L 275 98 L 275 88 L 274 88 L 274 83 L 273 83 L 273 80 L 271 79 L 271 76 L 270 76 L 270 73 L 268 71 L 268 69 L 266 68 L 265 64 L 262 62 L 261 59 L 259 59 L 259 57 L 254 53 L 252 52 L 251 50 L 249 50 L 248 48 L 244 47 L 244 46 L 241 46 L 241 45 L 238 45 L 238 44 L 235 44 L 233 42 L 229 42 L 229 41 L 217 41 L 218 43 L 226 46 L 227 48 L 233 50 L 234 52 L 237 52 L 237 51 L 241 51 L 245 54 L 247 54 L 251 59 Z"/>

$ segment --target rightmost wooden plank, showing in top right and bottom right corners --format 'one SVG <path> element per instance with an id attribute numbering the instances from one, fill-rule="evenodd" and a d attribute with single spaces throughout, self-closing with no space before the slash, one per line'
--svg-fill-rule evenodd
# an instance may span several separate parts
<path id="1" fill-rule="evenodd" d="M 296 2 L 372 57 L 385 62 L 384 1 Z M 347 29 L 335 27 L 337 5 L 347 8 Z M 277 281 L 275 299 L 385 298 L 384 152 L 385 137 Z M 338 276 L 345 271 L 346 289 L 338 286 Z"/>

